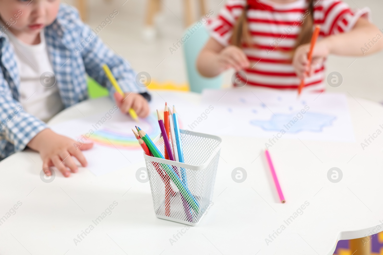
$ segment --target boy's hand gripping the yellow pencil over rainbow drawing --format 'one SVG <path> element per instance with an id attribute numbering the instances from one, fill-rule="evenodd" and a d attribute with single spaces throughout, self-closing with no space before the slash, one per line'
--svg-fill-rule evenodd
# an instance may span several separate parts
<path id="1" fill-rule="evenodd" d="M 115 92 L 114 96 L 121 112 L 128 112 L 130 108 L 133 108 L 140 118 L 145 118 L 149 115 L 149 104 L 140 94 L 125 93 L 123 97 Z"/>

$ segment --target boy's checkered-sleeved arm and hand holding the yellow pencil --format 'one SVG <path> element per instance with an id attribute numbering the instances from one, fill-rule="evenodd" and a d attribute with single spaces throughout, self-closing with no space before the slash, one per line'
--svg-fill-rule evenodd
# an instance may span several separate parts
<path id="1" fill-rule="evenodd" d="M 149 115 L 149 104 L 139 93 L 146 92 L 145 85 L 138 86 L 136 83 L 136 72 L 130 64 L 122 57 L 109 49 L 92 30 L 78 19 L 81 29 L 81 39 L 88 42 L 81 50 L 85 70 L 89 76 L 95 79 L 102 86 L 108 88 L 110 94 L 114 94 L 117 106 L 123 112 L 133 108 L 139 117 Z M 119 86 L 124 91 L 124 96 L 115 93 L 115 89 L 103 71 L 103 64 L 108 65 Z M 148 84 L 149 85 L 149 84 Z"/>

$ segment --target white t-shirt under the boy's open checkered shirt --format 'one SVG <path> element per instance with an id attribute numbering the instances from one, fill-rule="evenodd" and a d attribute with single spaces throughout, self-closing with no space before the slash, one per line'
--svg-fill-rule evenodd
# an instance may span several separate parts
<path id="1" fill-rule="evenodd" d="M 54 83 L 56 79 L 48 57 L 44 30 L 40 32 L 41 42 L 35 45 L 20 41 L 9 29 L 6 34 L 15 52 L 20 74 L 19 101 L 26 112 L 47 122 L 64 109 L 64 105 Z"/>

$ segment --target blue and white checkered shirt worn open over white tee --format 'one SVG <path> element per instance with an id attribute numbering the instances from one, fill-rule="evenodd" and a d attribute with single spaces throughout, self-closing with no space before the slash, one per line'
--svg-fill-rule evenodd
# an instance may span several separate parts
<path id="1" fill-rule="evenodd" d="M 22 110 L 18 101 L 20 76 L 15 53 L 7 35 L 0 31 L 0 160 L 23 150 L 46 123 Z M 48 55 L 65 107 L 88 98 L 87 76 L 110 93 L 113 86 L 102 69 L 106 63 L 123 91 L 142 93 L 136 73 L 85 25 L 71 6 L 61 5 L 56 20 L 44 28 Z M 21 109 L 21 110 L 20 110 Z"/>

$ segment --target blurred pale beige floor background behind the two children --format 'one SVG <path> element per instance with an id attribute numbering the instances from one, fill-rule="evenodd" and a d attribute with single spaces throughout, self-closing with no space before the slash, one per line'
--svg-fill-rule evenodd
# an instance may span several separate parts
<path id="1" fill-rule="evenodd" d="M 78 6 L 79 0 L 62 0 L 63 3 Z M 106 16 L 118 11 L 118 15 L 98 34 L 113 50 L 126 58 L 137 71 L 146 71 L 155 81 L 187 84 L 183 49 L 171 54 L 169 47 L 184 36 L 184 2 L 197 0 L 160 0 L 160 13 L 155 16 L 155 31 L 152 39 L 143 36 L 148 0 L 88 0 L 85 22 L 96 28 Z M 206 10 L 218 13 L 226 0 L 206 0 Z M 381 0 L 344 0 L 352 8 L 364 6 L 372 10 L 373 23 L 383 29 L 383 1 Z M 196 11 L 198 13 L 198 11 Z M 194 17 L 198 19 L 197 16 Z M 149 31 L 150 32 L 150 31 Z M 150 33 L 149 33 L 150 35 Z M 149 36 L 150 37 L 150 36 Z M 361 45 L 362 47 L 363 45 Z M 363 97 L 383 102 L 383 52 L 368 57 L 330 56 L 327 60 L 326 74 L 337 71 L 343 76 L 339 88 L 327 84 L 327 91 L 342 91 L 354 97 Z M 231 86 L 232 70 L 224 74 L 224 84 Z"/>

